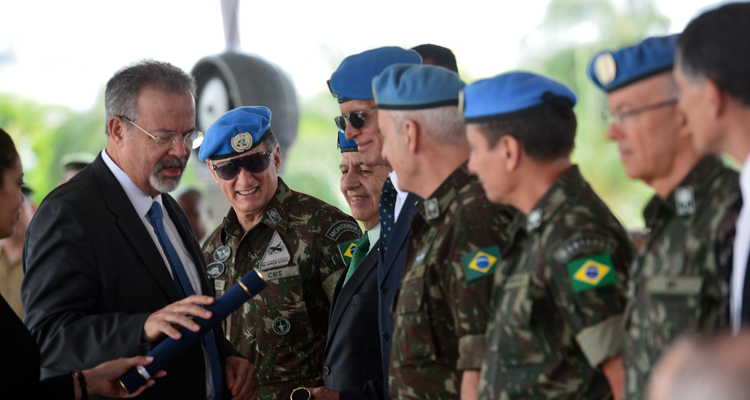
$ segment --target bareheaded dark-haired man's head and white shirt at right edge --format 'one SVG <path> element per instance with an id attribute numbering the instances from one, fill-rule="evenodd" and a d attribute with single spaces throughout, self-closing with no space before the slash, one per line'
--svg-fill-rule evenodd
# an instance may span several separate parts
<path id="1" fill-rule="evenodd" d="M 750 324 L 750 3 L 726 4 L 694 19 L 677 41 L 679 107 L 688 115 L 698 151 L 743 163 L 745 203 L 737 220 L 731 274 L 732 331 Z"/>

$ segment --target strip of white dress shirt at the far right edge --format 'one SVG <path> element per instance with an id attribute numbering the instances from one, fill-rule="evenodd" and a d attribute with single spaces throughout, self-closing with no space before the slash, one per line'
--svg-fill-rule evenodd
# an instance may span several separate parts
<path id="1" fill-rule="evenodd" d="M 750 156 L 745 159 L 740 172 L 740 189 L 742 198 L 750 199 Z M 747 255 L 750 251 L 750 206 L 745 201 L 742 204 L 740 216 L 737 218 L 737 231 L 734 238 L 734 253 L 732 258 L 732 282 L 730 293 L 730 309 L 732 331 L 740 332 L 742 326 L 742 295 L 747 273 Z"/>

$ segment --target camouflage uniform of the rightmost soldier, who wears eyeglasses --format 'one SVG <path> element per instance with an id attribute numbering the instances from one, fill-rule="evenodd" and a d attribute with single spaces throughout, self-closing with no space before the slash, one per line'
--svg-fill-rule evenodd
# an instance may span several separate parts
<path id="1" fill-rule="evenodd" d="M 651 234 L 628 288 L 625 399 L 643 398 L 651 367 L 677 336 L 721 325 L 737 219 L 729 208 L 738 197 L 737 172 L 705 157 L 666 199 L 646 206 Z"/>

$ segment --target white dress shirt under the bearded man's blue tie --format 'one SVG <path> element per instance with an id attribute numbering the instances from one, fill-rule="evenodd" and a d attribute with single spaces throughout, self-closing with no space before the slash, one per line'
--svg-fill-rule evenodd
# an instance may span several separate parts
<path id="1" fill-rule="evenodd" d="M 164 230 L 167 232 L 167 236 L 169 236 L 169 241 L 172 242 L 172 246 L 174 246 L 174 249 L 177 252 L 177 256 L 180 257 L 182 266 L 187 273 L 188 280 L 190 280 L 190 285 L 193 287 L 195 294 L 203 294 L 203 290 L 201 289 L 200 284 L 200 278 L 198 277 L 198 270 L 195 267 L 195 262 L 193 262 L 193 259 L 190 257 L 190 254 L 185 247 L 185 243 L 182 242 L 182 238 L 180 237 L 180 234 L 178 233 L 174 222 L 172 222 L 172 219 L 169 217 L 169 213 L 164 209 L 161 195 L 151 197 L 146 193 L 143 193 L 143 191 L 138 186 L 136 186 L 132 180 L 130 180 L 128 174 L 126 174 L 125 171 L 123 171 L 122 168 L 120 168 L 119 165 L 115 164 L 112 158 L 110 158 L 109 154 L 107 154 L 107 149 L 102 150 L 102 159 L 104 160 L 104 163 L 107 164 L 107 167 L 109 167 L 109 170 L 112 171 L 112 174 L 115 175 L 117 181 L 120 182 L 120 186 L 122 186 L 122 189 L 125 191 L 125 194 L 130 200 L 130 203 L 133 205 L 133 208 L 135 208 L 135 212 L 141 217 L 141 222 L 143 222 L 143 226 L 151 236 L 151 240 L 153 240 L 154 244 L 156 245 L 156 249 L 159 250 L 159 254 L 161 254 L 161 258 L 164 260 L 164 268 L 169 271 L 169 275 L 172 276 L 172 279 L 174 279 L 174 275 L 172 275 L 172 268 L 169 266 L 169 260 L 164 254 L 164 250 L 161 248 L 161 244 L 159 243 L 159 238 L 156 236 L 154 227 L 151 225 L 151 222 L 146 216 L 148 214 L 148 211 L 151 209 L 151 204 L 153 202 L 159 203 L 159 205 L 162 207 L 162 214 L 164 214 Z M 203 348 L 203 358 L 206 362 L 206 398 L 210 400 L 214 398 L 214 385 L 213 381 L 211 380 L 211 368 L 205 347 Z"/>

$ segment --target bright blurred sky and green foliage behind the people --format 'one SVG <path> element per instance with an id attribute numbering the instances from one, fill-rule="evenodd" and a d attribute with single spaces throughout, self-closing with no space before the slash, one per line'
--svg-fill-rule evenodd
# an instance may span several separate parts
<path id="1" fill-rule="evenodd" d="M 524 69 L 572 86 L 579 95 L 574 161 L 623 223 L 638 228 L 653 192 L 627 178 L 616 145 L 605 138 L 606 101 L 586 76 L 588 61 L 602 49 L 680 32 L 719 3 L 239 0 L 238 29 L 229 36 L 235 50 L 264 60 L 291 83 L 287 99 L 298 114 L 290 120 L 296 126 L 298 116 L 299 125 L 294 142 L 282 148 L 281 175 L 297 191 L 348 212 L 339 191 L 338 104 L 326 85 L 341 60 L 380 46 L 434 43 L 453 50 L 467 83 Z M 37 203 L 61 182 L 64 155 L 104 148 L 104 85 L 117 69 L 153 58 L 190 72 L 228 43 L 219 0 L 0 0 L 0 15 L 0 127 L 19 147 Z M 272 128 L 276 117 L 274 111 Z M 194 154 L 177 191 L 209 195 L 210 229 L 229 207 L 214 186 Z"/>

